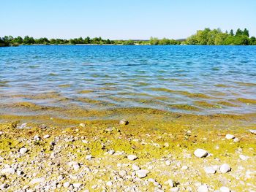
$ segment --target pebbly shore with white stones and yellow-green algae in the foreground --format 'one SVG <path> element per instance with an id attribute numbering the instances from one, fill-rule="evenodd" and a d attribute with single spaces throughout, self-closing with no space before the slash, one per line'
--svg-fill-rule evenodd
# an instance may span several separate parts
<path id="1" fill-rule="evenodd" d="M 99 120 L 1 115 L 1 189 L 255 188 L 256 137 L 249 130 L 256 124 L 246 115 L 178 115 L 149 109 L 117 110 L 112 119 L 90 114 Z M 123 118 L 129 123 L 119 122 Z M 207 157 L 195 156 L 197 149 L 206 150 Z"/>

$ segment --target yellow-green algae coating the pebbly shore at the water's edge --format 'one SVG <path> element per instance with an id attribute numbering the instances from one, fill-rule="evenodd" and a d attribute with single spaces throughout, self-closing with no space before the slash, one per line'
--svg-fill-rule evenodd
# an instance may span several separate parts
<path id="1" fill-rule="evenodd" d="M 67 114 L 69 113 L 72 113 L 70 118 L 52 118 L 48 115 L 0 115 L 2 122 L 0 131 L 5 133 L 4 137 L 0 136 L 0 154 L 7 155 L 10 151 L 15 152 L 20 147 L 26 147 L 27 144 L 18 142 L 18 138 L 31 139 L 36 134 L 40 137 L 50 134 L 51 137 L 37 142 L 37 145 L 29 150 L 31 158 L 36 157 L 41 150 L 50 155 L 49 143 L 55 136 L 83 136 L 89 143 L 83 143 L 79 140 L 70 142 L 69 147 L 60 152 L 61 158 L 56 159 L 56 161 L 64 165 L 69 161 L 67 154 L 72 153 L 76 156 L 76 161 L 83 162 L 87 166 L 110 166 L 113 169 L 117 169 L 116 164 L 127 164 L 127 158 L 118 155 L 103 158 L 102 161 L 94 161 L 93 163 L 84 158 L 86 154 L 91 154 L 95 158 L 102 158 L 110 149 L 138 155 L 138 160 L 134 161 L 134 164 L 141 167 L 154 160 L 157 160 L 157 162 L 162 162 L 160 159 L 176 160 L 180 161 L 181 164 L 197 169 L 201 174 L 191 175 L 189 171 L 180 172 L 178 169 L 170 169 L 170 167 L 163 164 L 156 171 L 150 171 L 147 178 L 152 177 L 159 183 L 165 183 L 168 179 L 178 183 L 198 181 L 207 183 L 213 186 L 214 189 L 222 186 L 219 182 L 221 177 L 230 180 L 229 187 L 232 188 L 232 185 L 237 183 L 236 178 L 233 177 L 233 172 L 236 172 L 237 166 L 243 165 L 252 169 L 249 165 L 255 164 L 256 138 L 255 135 L 249 133 L 248 129 L 256 128 L 256 114 L 187 115 L 144 108 L 124 108 L 107 111 L 70 110 Z M 81 116 L 84 117 L 84 120 L 78 118 Z M 91 117 L 95 116 L 97 117 L 96 120 L 90 120 Z M 121 118 L 129 120 L 129 124 L 127 126 L 119 125 L 118 120 Z M 28 126 L 31 128 L 17 128 L 18 124 L 25 122 L 29 123 Z M 42 123 L 45 123 L 48 128 L 39 128 Z M 79 123 L 85 123 L 86 127 L 80 127 Z M 108 131 L 108 128 L 112 128 L 112 131 Z M 191 134 L 187 133 L 188 130 L 191 131 Z M 232 140 L 226 140 L 224 139 L 225 134 L 234 134 L 240 141 L 235 143 Z M 81 150 L 74 150 L 72 146 L 78 146 Z M 218 150 L 217 146 L 219 147 Z M 86 148 L 89 150 L 86 150 Z M 188 154 L 192 154 L 197 148 L 203 148 L 213 154 L 213 156 L 207 158 L 208 163 L 206 159 L 196 158 L 194 155 L 192 155 L 192 158 L 186 159 L 181 153 L 185 151 Z M 243 154 L 252 158 L 246 162 L 239 161 L 236 153 L 238 148 L 242 148 Z M 219 158 L 219 161 L 216 158 Z M 19 161 L 26 161 L 26 158 L 21 157 Z M 211 177 L 203 171 L 203 166 L 223 163 L 230 164 L 233 170 L 224 175 L 217 173 Z M 170 172 L 170 175 L 163 174 L 165 172 Z M 173 177 L 172 172 L 176 172 L 175 177 Z M 56 175 L 53 174 L 48 180 L 54 177 Z M 100 174 L 98 177 L 88 180 L 85 183 L 85 187 L 91 188 L 99 179 L 108 181 L 110 177 L 109 172 Z M 248 179 L 241 178 L 241 180 L 255 185 L 253 177 Z M 126 181 L 126 183 L 127 185 L 131 184 L 129 181 Z M 196 191 L 195 186 L 191 186 L 193 191 Z M 143 186 L 140 190 L 154 191 L 154 186 Z M 246 185 L 238 185 L 233 190 L 246 190 Z"/>

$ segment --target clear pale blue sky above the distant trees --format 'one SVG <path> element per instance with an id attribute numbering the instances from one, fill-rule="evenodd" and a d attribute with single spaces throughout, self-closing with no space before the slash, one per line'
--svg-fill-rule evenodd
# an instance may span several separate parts
<path id="1" fill-rule="evenodd" d="M 178 39 L 206 27 L 256 36 L 256 0 L 0 0 L 0 37 Z"/>

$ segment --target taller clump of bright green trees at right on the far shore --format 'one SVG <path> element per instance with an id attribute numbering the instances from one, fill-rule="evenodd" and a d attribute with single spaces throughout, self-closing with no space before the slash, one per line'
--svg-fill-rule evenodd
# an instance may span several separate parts
<path id="1" fill-rule="evenodd" d="M 233 29 L 230 32 L 222 32 L 219 28 L 211 30 L 205 28 L 188 37 L 182 42 L 184 45 L 256 45 L 255 37 L 249 38 L 249 31 L 238 28 L 236 34 Z"/>

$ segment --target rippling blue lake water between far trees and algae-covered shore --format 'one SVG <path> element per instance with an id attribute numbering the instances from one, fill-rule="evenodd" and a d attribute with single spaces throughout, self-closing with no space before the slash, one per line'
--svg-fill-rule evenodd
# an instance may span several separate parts
<path id="1" fill-rule="evenodd" d="M 256 46 L 0 47 L 0 99 L 2 113 L 21 101 L 86 110 L 256 112 Z"/>

